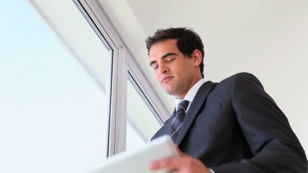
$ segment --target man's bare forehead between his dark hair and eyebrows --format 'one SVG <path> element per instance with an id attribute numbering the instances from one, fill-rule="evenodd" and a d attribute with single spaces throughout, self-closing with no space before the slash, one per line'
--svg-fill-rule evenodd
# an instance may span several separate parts
<path id="1" fill-rule="evenodd" d="M 177 39 L 167 39 L 159 41 L 152 45 L 149 51 L 149 57 L 151 60 L 161 58 L 167 53 L 178 53 L 179 50 L 176 45 Z"/>

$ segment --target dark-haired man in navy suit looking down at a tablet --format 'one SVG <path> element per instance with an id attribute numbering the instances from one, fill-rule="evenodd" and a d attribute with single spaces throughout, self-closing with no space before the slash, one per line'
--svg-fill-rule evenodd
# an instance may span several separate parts
<path id="1" fill-rule="evenodd" d="M 150 170 L 307 172 L 305 152 L 288 119 L 254 75 L 206 81 L 202 40 L 190 29 L 159 29 L 146 47 L 157 80 L 176 102 L 152 139 L 169 134 L 180 155 L 154 162 Z"/>

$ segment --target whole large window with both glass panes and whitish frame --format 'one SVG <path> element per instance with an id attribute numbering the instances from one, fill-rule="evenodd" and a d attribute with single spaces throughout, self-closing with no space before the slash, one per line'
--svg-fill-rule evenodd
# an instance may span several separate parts
<path id="1" fill-rule="evenodd" d="M 0 15 L 0 172 L 85 172 L 149 141 L 169 113 L 98 2 L 26 2 Z"/>

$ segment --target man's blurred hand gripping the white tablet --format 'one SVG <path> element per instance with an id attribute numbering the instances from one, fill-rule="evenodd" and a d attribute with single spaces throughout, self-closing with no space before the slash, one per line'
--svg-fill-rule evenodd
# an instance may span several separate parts
<path id="1" fill-rule="evenodd" d="M 170 172 L 186 172 L 186 173 L 211 173 L 200 160 L 190 157 L 189 155 L 180 151 L 180 149 L 175 145 L 177 152 L 179 153 L 180 158 L 170 157 L 167 159 L 159 160 L 153 162 L 149 165 L 149 170 L 157 169 L 169 169 Z"/>

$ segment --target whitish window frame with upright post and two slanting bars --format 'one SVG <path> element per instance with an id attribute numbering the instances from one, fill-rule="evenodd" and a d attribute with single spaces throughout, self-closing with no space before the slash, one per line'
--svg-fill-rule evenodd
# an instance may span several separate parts
<path id="1" fill-rule="evenodd" d="M 115 32 L 112 23 L 99 8 L 99 4 L 96 1 L 90 0 L 73 1 L 76 4 L 80 3 L 82 5 L 85 12 L 90 16 L 105 39 L 113 43 L 113 50 L 118 50 L 118 57 L 114 57 L 113 59 L 114 76 L 112 77 L 117 78 L 117 80 L 113 78 L 110 105 L 111 117 L 108 156 L 112 156 L 126 149 L 127 78 L 133 83 L 137 92 L 161 125 L 166 121 L 166 115 L 169 115 L 169 112 L 158 97 L 156 91 L 149 84 L 133 56 L 124 46 L 119 35 Z"/>

